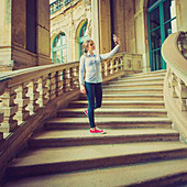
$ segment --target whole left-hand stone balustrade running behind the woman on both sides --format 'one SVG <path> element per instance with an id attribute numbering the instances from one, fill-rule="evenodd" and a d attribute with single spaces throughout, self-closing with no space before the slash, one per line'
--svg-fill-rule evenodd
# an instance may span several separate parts
<path id="1" fill-rule="evenodd" d="M 103 81 L 108 81 L 125 74 L 140 73 L 142 56 L 119 53 L 102 61 L 101 67 Z M 41 109 L 45 110 L 54 99 L 66 99 L 68 92 L 79 90 L 78 74 L 79 62 L 1 74 L 0 113 L 3 113 L 3 120 L 0 116 L 0 132 L 14 132 Z"/>

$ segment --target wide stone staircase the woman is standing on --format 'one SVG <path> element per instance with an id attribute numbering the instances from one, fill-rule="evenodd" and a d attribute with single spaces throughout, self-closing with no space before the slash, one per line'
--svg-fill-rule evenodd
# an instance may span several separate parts
<path id="1" fill-rule="evenodd" d="M 165 70 L 103 85 L 89 134 L 81 96 L 29 141 L 7 169 L 9 186 L 179 186 L 187 183 L 187 145 L 172 129 L 163 101 Z"/>

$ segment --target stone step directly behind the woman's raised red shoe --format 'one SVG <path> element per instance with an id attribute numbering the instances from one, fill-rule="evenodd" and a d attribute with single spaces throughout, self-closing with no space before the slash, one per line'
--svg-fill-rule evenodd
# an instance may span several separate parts
<path id="1" fill-rule="evenodd" d="M 87 108 L 68 108 L 61 109 L 57 111 L 57 117 L 72 117 L 72 118 L 80 118 L 87 117 L 85 114 L 85 109 Z M 109 118 L 119 118 L 119 117 L 167 117 L 167 111 L 165 109 L 117 109 L 117 108 L 99 108 L 95 110 L 95 117 L 109 117 Z M 75 119 L 76 120 L 76 119 Z"/>

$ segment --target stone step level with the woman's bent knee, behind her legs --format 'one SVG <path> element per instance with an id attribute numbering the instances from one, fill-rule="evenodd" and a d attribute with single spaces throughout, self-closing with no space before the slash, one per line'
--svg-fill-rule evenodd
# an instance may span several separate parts
<path id="1" fill-rule="evenodd" d="M 69 103 L 70 108 L 85 108 L 88 107 L 88 101 L 77 100 Z M 146 100 L 103 100 L 102 108 L 151 108 L 151 109 L 164 109 L 164 101 L 146 101 Z"/>

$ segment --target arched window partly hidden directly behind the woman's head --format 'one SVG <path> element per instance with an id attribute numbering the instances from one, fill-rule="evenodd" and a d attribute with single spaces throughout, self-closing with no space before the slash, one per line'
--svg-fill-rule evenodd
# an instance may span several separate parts
<path id="1" fill-rule="evenodd" d="M 84 42 L 85 40 L 89 38 L 88 34 L 87 34 L 87 25 L 88 22 L 85 22 L 85 24 L 81 26 L 80 29 L 80 33 L 79 33 L 79 58 L 80 56 L 84 54 Z"/>

